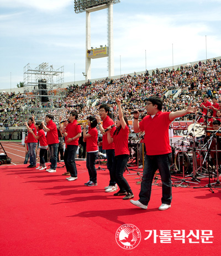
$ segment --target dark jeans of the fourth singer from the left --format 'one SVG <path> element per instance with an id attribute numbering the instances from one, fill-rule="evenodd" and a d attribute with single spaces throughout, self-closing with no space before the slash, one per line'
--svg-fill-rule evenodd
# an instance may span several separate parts
<path id="1" fill-rule="evenodd" d="M 76 145 L 67 145 L 67 149 L 65 149 L 64 162 L 67 172 L 71 173 L 71 177 L 77 177 L 77 167 L 75 163 L 76 151 Z"/>

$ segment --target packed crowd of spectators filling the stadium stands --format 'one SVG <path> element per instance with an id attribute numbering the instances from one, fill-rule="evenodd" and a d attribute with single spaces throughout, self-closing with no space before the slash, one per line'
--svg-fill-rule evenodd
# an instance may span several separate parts
<path id="1" fill-rule="evenodd" d="M 106 103 L 117 117 L 115 98 L 121 96 L 123 112 L 131 119 L 130 112 L 134 109 L 144 111 L 146 99 L 153 95 L 163 99 L 163 111 L 185 109 L 190 102 L 200 105 L 204 94 L 208 94 L 209 101 L 214 96 L 221 100 L 221 59 L 181 65 L 176 70 L 156 69 L 150 73 L 146 70 L 145 74 L 140 75 L 134 72 L 133 76 L 123 75 L 118 79 L 106 78 L 93 83 L 88 80 L 82 85 L 69 85 L 65 90 L 64 103 L 58 105 L 65 107 L 66 114 L 75 110 L 78 112 L 78 120 L 86 120 L 87 116 L 97 115 L 99 105 Z M 180 90 L 180 93 L 174 98 L 175 94 L 167 96 L 169 90 L 175 93 Z M 24 94 L 0 93 L 1 126 L 23 126 L 27 119 L 25 106 L 39 106 L 41 111 L 44 111 L 43 107 L 50 107 L 50 102 L 43 106 L 36 99 L 25 103 Z"/>

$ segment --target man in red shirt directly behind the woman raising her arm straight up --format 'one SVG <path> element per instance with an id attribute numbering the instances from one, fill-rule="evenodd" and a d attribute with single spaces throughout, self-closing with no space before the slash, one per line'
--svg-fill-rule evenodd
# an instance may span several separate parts
<path id="1" fill-rule="evenodd" d="M 114 144 L 113 142 L 111 144 L 108 143 L 107 141 L 107 132 L 104 132 L 107 127 L 114 125 L 114 121 L 111 119 L 111 117 L 108 116 L 109 113 L 109 106 L 106 104 L 103 104 L 99 106 L 99 116 L 97 116 L 97 123 L 99 130 L 101 131 L 101 134 L 103 135 L 103 141 L 99 142 L 98 146 L 101 146 L 102 144 L 102 149 L 106 150 L 106 155 L 107 155 L 107 168 L 110 173 L 110 181 L 109 185 L 104 188 L 105 192 L 113 192 L 117 190 L 117 184 L 114 179 L 114 175 L 112 172 L 112 166 L 113 166 L 113 161 L 114 161 Z M 103 126 L 101 124 L 101 119 L 103 121 Z M 116 130 L 116 127 L 112 127 L 111 129 L 111 136 L 113 136 L 114 131 Z"/>

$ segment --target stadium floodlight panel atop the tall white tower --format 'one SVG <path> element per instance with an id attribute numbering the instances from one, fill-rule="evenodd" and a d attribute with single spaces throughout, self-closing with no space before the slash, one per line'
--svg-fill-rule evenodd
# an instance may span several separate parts
<path id="1" fill-rule="evenodd" d="M 75 13 L 85 12 L 93 7 L 119 3 L 120 0 L 75 0 Z"/>

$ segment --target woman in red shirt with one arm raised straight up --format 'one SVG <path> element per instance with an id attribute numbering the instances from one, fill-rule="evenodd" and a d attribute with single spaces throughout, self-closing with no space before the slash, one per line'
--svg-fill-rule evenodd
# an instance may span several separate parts
<path id="1" fill-rule="evenodd" d="M 120 190 L 114 194 L 114 196 L 123 196 L 123 199 L 131 199 L 134 197 L 134 194 L 127 182 L 124 178 L 124 170 L 127 165 L 129 159 L 129 149 L 128 149 L 128 136 L 129 136 L 129 124 L 127 117 L 123 115 L 122 107 L 120 106 L 120 100 L 116 99 L 118 104 L 118 117 L 116 126 L 117 129 L 114 131 L 113 136 L 111 137 L 110 132 L 107 132 L 107 140 L 108 143 L 111 144 L 114 142 L 115 147 L 115 157 L 113 162 L 113 173 L 115 176 L 115 181 L 117 182 Z M 108 127 L 111 129 L 111 126 Z"/>

